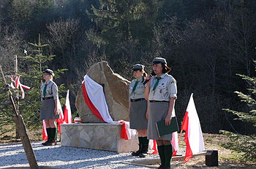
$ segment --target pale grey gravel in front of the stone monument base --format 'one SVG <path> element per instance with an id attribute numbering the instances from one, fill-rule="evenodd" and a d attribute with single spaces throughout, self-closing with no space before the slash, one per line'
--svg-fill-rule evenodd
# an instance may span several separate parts
<path id="1" fill-rule="evenodd" d="M 39 166 L 52 168 L 147 168 L 123 162 L 142 160 L 130 153 L 116 153 L 68 146 L 42 146 L 42 142 L 31 143 Z M 146 159 L 158 155 L 149 154 Z M 22 144 L 0 144 L 0 168 L 28 167 Z"/>

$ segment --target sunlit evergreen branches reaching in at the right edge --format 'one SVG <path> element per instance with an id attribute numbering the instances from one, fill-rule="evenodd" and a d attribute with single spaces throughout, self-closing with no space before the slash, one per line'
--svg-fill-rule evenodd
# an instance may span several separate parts
<path id="1" fill-rule="evenodd" d="M 256 63 L 256 61 L 255 61 Z M 256 68 L 255 68 L 256 70 Z M 249 107 L 248 112 L 234 111 L 230 109 L 223 109 L 227 112 L 236 114 L 236 119 L 243 122 L 252 122 L 253 126 L 256 127 L 256 77 L 246 76 L 244 74 L 237 74 L 246 81 L 248 86 L 247 90 L 249 94 L 244 94 L 236 91 L 241 102 L 246 103 Z M 231 133 L 222 131 L 225 135 L 228 135 L 231 143 L 225 144 L 226 148 L 232 149 L 236 152 L 241 152 L 244 160 L 256 161 L 256 133 L 251 135 L 241 135 L 237 133 Z"/>

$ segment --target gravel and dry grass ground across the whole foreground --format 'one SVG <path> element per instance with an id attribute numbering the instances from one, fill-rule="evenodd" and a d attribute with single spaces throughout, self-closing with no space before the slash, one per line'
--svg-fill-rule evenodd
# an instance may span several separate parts
<path id="1" fill-rule="evenodd" d="M 251 169 L 256 168 L 253 162 L 241 162 L 232 160 L 233 152 L 219 146 L 227 141 L 224 135 L 214 135 L 204 133 L 206 149 L 215 149 L 219 152 L 219 166 L 208 167 L 205 165 L 205 157 L 193 157 L 189 162 L 173 161 L 171 168 L 178 169 Z M 143 166 L 123 162 L 140 162 L 142 159 L 132 157 L 129 153 L 118 154 L 116 152 L 97 151 L 92 149 L 78 149 L 75 147 L 60 146 L 42 146 L 42 141 L 33 142 L 32 146 L 37 157 L 39 166 L 42 169 L 56 168 L 157 168 L 159 165 Z M 180 150 L 177 154 L 185 153 L 184 143 L 181 142 Z M 149 154 L 144 164 L 149 165 L 156 161 L 158 155 Z M 143 159 L 144 160 L 144 159 Z M 26 159 L 23 146 L 21 144 L 0 144 L 0 168 L 5 169 L 28 169 L 29 164 Z M 41 168 L 40 168 L 41 169 Z"/>

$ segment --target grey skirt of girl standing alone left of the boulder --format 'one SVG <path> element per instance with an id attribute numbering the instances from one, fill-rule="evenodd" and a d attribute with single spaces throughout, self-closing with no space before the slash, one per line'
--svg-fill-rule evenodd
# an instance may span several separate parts
<path id="1" fill-rule="evenodd" d="M 59 119 L 59 114 L 54 114 L 55 102 L 53 98 L 42 100 L 40 119 Z"/>

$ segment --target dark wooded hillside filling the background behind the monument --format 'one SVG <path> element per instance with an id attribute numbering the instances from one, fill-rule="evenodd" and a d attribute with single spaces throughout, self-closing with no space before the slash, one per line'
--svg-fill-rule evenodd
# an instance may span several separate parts
<path id="1" fill-rule="evenodd" d="M 43 55 L 55 55 L 44 67 L 67 68 L 55 82 L 70 89 L 75 113 L 75 95 L 92 64 L 107 60 L 114 72 L 132 80 L 133 64 L 145 65 L 150 74 L 151 60 L 166 58 L 178 85 L 178 121 L 194 93 L 203 132 L 252 134 L 252 122 L 238 121 L 222 109 L 251 110 L 234 91 L 252 94 L 246 90 L 252 86 L 236 74 L 255 76 L 255 9 L 253 0 L 0 0 L 0 63 L 11 74 L 18 55 L 22 83 L 33 88 L 25 75 L 38 64 L 26 59 L 24 50 L 35 55 L 29 42 L 38 44 L 40 34 L 41 43 L 48 44 Z M 7 103 L 1 95 L 1 103 Z M 26 92 L 20 113 L 37 124 L 39 104 L 28 108 L 32 101 L 39 103 L 39 95 Z M 1 104 L 0 112 L 4 133 L 3 120 L 11 122 L 12 111 Z"/>

